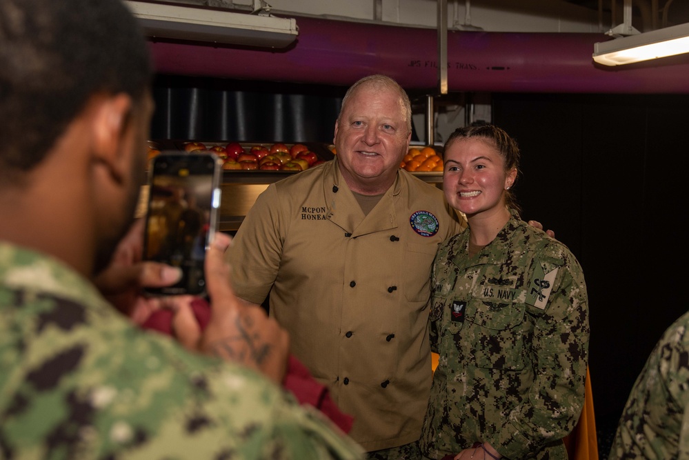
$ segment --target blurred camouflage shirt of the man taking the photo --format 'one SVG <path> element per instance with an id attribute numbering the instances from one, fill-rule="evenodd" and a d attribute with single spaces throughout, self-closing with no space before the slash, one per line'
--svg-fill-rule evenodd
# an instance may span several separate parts
<path id="1" fill-rule="evenodd" d="M 316 410 L 144 332 L 70 268 L 0 242 L 0 459 L 359 459 Z"/>

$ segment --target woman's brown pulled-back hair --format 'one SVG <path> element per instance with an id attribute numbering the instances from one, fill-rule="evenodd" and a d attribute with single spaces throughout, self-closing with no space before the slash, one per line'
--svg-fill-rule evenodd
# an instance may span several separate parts
<path id="1" fill-rule="evenodd" d="M 457 128 L 455 132 L 450 134 L 450 137 L 448 137 L 448 140 L 445 142 L 443 152 L 446 152 L 453 143 L 461 139 L 472 138 L 484 139 L 492 143 L 503 160 L 505 160 L 505 169 L 511 170 L 512 168 L 515 168 L 515 170 L 517 170 L 517 176 L 519 176 L 519 159 L 521 157 L 521 152 L 519 151 L 517 141 L 512 139 L 510 134 L 507 134 L 505 130 L 490 123 L 476 123 L 472 124 L 472 126 Z M 517 177 L 515 177 L 515 183 L 516 182 Z M 505 197 L 507 206 L 509 208 L 512 208 L 517 212 L 521 212 L 521 209 L 517 204 L 517 198 L 512 190 L 506 190 Z"/>

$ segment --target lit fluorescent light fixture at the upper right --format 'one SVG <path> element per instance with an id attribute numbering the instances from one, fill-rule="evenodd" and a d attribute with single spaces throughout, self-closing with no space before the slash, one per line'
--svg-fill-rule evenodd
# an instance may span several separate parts
<path id="1" fill-rule="evenodd" d="M 689 23 L 595 43 L 593 51 L 593 60 L 605 66 L 683 54 L 689 52 Z"/>

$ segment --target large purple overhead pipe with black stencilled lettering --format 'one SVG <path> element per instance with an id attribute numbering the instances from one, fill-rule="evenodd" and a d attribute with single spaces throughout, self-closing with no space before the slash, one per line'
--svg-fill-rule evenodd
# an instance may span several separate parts
<path id="1" fill-rule="evenodd" d="M 349 86 L 372 73 L 407 90 L 437 88 L 437 31 L 297 17 L 285 50 L 151 41 L 162 74 Z M 689 93 L 689 55 L 609 68 L 592 60 L 603 34 L 448 32 L 450 92 Z M 604 67 L 604 68 L 603 68 Z"/>

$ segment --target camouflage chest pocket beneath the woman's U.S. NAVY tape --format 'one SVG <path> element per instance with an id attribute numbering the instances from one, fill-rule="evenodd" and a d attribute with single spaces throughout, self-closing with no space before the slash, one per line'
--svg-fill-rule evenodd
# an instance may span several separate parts
<path id="1" fill-rule="evenodd" d="M 474 366 L 523 369 L 530 335 L 524 303 L 481 297 L 468 303 L 461 341 L 466 346 L 468 362 Z"/>

